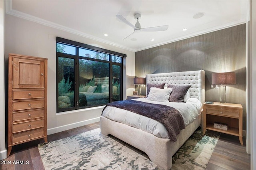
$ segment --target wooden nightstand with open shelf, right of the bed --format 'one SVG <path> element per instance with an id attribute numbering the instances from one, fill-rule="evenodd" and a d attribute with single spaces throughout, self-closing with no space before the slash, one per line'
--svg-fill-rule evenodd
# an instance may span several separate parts
<path id="1" fill-rule="evenodd" d="M 219 103 L 206 104 L 203 106 L 203 134 L 206 129 L 231 134 L 239 137 L 241 145 L 243 145 L 242 125 L 243 125 L 243 108 L 240 104 Z M 214 128 L 214 122 L 227 124 L 228 130 Z"/>

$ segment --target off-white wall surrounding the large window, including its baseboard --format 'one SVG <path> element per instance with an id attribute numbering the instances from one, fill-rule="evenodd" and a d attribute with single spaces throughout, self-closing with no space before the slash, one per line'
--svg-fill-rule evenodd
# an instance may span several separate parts
<path id="1" fill-rule="evenodd" d="M 126 93 L 134 90 L 133 77 L 135 70 L 135 53 L 113 45 L 97 42 L 70 32 L 44 26 L 6 14 L 5 59 L 8 53 L 17 53 L 48 58 L 48 98 L 47 124 L 48 134 L 60 132 L 74 127 L 87 125 L 99 121 L 103 107 L 80 109 L 56 113 L 56 37 L 86 43 L 104 49 L 124 53 L 124 99 Z M 127 90 L 126 90 L 127 89 Z M 128 91 L 128 92 L 127 92 Z"/>

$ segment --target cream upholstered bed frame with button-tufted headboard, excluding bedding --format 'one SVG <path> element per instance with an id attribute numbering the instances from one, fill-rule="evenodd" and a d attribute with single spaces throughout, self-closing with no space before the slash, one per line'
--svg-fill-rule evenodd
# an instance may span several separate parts
<path id="1" fill-rule="evenodd" d="M 198 99 L 201 104 L 204 103 L 204 79 L 203 70 L 146 75 L 147 85 L 157 85 L 162 83 L 191 85 L 188 91 L 189 98 L 191 100 L 193 100 L 193 98 Z M 142 101 L 143 100 L 144 99 L 142 99 Z M 110 106 L 106 107 L 106 109 L 109 107 Z M 200 111 L 202 111 L 202 109 Z M 142 150 L 148 155 L 152 162 L 166 170 L 169 170 L 172 167 L 172 156 L 201 125 L 202 121 L 201 114 L 198 114 L 192 122 L 186 125 L 184 129 L 180 130 L 179 134 L 176 136 L 176 141 L 171 142 L 170 138 L 159 137 L 155 134 L 141 130 L 140 128 L 113 121 L 112 119 L 104 117 L 106 114 L 103 113 L 102 116 L 100 116 L 100 129 L 102 134 L 112 134 L 120 140 Z"/>

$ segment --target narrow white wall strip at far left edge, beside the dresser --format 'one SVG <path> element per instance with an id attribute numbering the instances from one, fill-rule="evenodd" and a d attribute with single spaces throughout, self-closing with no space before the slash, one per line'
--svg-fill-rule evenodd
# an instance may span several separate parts
<path id="1" fill-rule="evenodd" d="M 0 160 L 6 158 L 4 102 L 4 1 L 0 0 Z"/>

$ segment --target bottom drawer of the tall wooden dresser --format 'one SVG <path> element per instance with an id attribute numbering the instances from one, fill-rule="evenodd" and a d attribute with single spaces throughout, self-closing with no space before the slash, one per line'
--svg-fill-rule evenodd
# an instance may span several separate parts
<path id="1" fill-rule="evenodd" d="M 22 132 L 22 133 L 18 133 L 18 134 L 13 134 L 12 135 L 12 144 L 40 138 L 43 136 L 44 136 L 44 128 L 37 129 L 37 130 L 31 130 L 28 132 Z"/>

